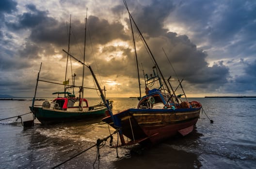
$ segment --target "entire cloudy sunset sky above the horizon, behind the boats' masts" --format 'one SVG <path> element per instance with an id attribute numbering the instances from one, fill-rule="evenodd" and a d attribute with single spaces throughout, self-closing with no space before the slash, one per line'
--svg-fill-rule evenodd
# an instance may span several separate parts
<path id="1" fill-rule="evenodd" d="M 163 76 L 172 77 L 173 88 L 179 79 L 187 97 L 256 96 L 255 0 L 127 0 L 127 4 Z M 105 86 L 107 97 L 139 96 L 123 0 L 0 0 L 0 94 L 33 97 L 41 62 L 39 79 L 64 81 L 70 15 L 71 55 L 83 61 L 86 42 L 85 64 Z M 133 30 L 144 95 L 143 70 L 151 74 L 154 63 L 134 25 Z M 79 62 L 68 60 L 70 84 L 76 73 L 75 84 L 81 85 L 82 70 Z M 86 67 L 84 86 L 95 88 Z M 39 82 L 37 97 L 63 90 L 62 85 Z M 99 94 L 84 91 L 85 97 Z"/>

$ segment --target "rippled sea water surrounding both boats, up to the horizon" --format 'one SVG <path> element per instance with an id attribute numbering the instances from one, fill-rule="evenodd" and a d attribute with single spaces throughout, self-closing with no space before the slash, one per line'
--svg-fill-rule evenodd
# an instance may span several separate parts
<path id="1" fill-rule="evenodd" d="M 129 98 L 111 100 L 113 113 L 138 103 Z M 97 151 L 97 139 L 114 132 L 100 119 L 50 126 L 35 121 L 31 128 L 23 128 L 17 118 L 2 120 L 0 169 L 52 169 L 58 165 L 58 169 L 255 169 L 256 99 L 189 100 L 200 101 L 204 109 L 193 132 L 150 148 L 111 148 L 108 139 Z M 100 99 L 88 101 L 93 105 Z M 31 104 L 30 99 L 0 100 L 0 119 L 28 113 Z M 117 135 L 113 136 L 116 144 Z"/>

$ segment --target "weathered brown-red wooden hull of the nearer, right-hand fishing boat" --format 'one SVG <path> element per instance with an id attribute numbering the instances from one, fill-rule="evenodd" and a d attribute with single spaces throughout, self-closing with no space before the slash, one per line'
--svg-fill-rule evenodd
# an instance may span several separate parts
<path id="1" fill-rule="evenodd" d="M 193 130 L 200 112 L 201 108 L 128 109 L 113 116 L 119 119 L 121 132 L 131 140 L 130 142 L 155 144 L 178 133 L 189 134 Z M 112 127 L 118 128 L 114 126 L 110 116 L 102 120 Z"/>

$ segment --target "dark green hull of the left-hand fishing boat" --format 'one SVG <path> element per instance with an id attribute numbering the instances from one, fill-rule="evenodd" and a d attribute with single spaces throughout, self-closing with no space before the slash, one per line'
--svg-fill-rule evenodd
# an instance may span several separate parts
<path id="1" fill-rule="evenodd" d="M 96 117 L 104 117 L 106 107 L 101 107 L 94 110 L 86 111 L 63 111 L 63 110 L 54 110 L 50 108 L 43 107 L 30 107 L 30 110 L 34 113 L 35 117 L 42 124 L 55 124 L 62 122 L 71 122 L 75 120 L 90 120 L 95 119 Z"/>

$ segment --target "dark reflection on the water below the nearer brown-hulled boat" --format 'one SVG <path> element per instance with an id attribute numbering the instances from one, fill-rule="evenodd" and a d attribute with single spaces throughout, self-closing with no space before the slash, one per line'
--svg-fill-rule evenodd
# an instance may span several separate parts
<path id="1" fill-rule="evenodd" d="M 200 136 L 201 134 L 193 132 L 185 140 L 177 136 L 154 147 L 139 146 L 135 150 L 133 147 L 129 158 L 115 161 L 114 165 L 117 169 L 199 169 L 202 167 L 199 155 L 178 147 L 184 144 L 188 147 L 198 147 L 200 145 L 197 139 Z"/>

